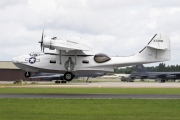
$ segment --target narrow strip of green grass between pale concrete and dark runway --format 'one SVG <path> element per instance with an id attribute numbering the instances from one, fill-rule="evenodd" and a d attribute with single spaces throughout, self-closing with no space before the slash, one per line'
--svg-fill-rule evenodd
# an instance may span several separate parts
<path id="1" fill-rule="evenodd" d="M 180 94 L 180 88 L 0 88 L 0 93 L 44 94 Z"/>

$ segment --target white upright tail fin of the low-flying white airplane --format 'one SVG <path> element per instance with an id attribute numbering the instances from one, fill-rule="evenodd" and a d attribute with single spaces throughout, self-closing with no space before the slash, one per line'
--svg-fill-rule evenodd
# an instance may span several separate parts
<path id="1" fill-rule="evenodd" d="M 155 34 L 148 45 L 139 52 L 139 56 L 149 62 L 170 60 L 171 48 L 169 37 L 163 34 Z"/>

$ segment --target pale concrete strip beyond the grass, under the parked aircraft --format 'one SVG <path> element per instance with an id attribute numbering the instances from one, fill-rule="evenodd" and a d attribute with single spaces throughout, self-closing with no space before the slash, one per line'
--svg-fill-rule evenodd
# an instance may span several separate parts
<path id="1" fill-rule="evenodd" d="M 1 85 L 2 84 L 2 85 Z M 66 84 L 54 84 L 53 82 L 38 82 L 37 84 L 24 84 L 24 85 L 12 85 L 3 86 L 3 82 L 0 82 L 0 88 L 2 87 L 27 87 L 27 88 L 180 88 L 179 82 L 69 82 Z M 12 83 L 11 83 L 12 84 Z"/>

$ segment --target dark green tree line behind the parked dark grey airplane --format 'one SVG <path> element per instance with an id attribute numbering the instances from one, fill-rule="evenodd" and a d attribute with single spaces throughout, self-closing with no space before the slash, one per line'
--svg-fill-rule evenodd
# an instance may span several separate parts
<path id="1" fill-rule="evenodd" d="M 165 63 L 159 63 L 158 66 L 145 67 L 148 72 L 180 72 L 180 65 L 167 65 Z M 130 74 L 136 72 L 135 66 L 126 68 L 115 68 L 115 73 Z"/>

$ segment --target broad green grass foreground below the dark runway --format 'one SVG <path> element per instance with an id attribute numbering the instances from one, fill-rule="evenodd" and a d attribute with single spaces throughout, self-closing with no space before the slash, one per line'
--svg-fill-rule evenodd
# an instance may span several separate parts
<path id="1" fill-rule="evenodd" d="M 0 99 L 1 120 L 180 120 L 176 99 Z"/>

